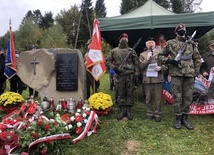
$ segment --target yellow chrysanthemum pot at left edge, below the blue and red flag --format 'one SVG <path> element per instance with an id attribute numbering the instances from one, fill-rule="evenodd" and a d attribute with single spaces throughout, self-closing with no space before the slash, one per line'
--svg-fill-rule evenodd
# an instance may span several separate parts
<path id="1" fill-rule="evenodd" d="M 14 111 L 23 101 L 24 98 L 15 92 L 5 92 L 0 95 L 0 106 L 6 113 Z"/>

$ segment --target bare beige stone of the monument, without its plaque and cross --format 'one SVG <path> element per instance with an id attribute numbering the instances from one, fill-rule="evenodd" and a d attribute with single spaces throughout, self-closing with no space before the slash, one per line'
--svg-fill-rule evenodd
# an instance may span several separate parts
<path id="1" fill-rule="evenodd" d="M 55 56 L 57 53 L 77 53 L 78 54 L 78 90 L 77 91 L 57 91 L 56 90 L 56 69 Z M 34 65 L 31 62 L 34 60 L 37 63 L 35 66 L 36 74 L 34 74 Z M 17 74 L 21 80 L 31 88 L 40 92 L 41 98 L 46 96 L 54 98 L 55 104 L 60 98 L 69 100 L 74 98 L 78 101 L 79 98 L 86 98 L 86 71 L 82 53 L 77 49 L 55 48 L 55 49 L 37 49 L 35 51 L 21 52 L 17 61 Z"/>

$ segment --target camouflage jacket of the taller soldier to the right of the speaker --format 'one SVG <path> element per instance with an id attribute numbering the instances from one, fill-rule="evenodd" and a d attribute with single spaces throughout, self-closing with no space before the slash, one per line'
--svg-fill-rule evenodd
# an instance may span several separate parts
<path id="1" fill-rule="evenodd" d="M 160 55 L 164 56 L 167 60 L 167 56 L 170 55 L 170 59 L 174 60 L 178 54 L 178 51 L 182 47 L 185 40 L 180 37 L 171 39 L 166 42 L 163 50 Z M 184 49 L 182 56 L 189 57 L 188 59 L 181 59 L 179 61 L 180 67 L 173 65 L 169 66 L 169 75 L 171 76 L 184 76 L 184 77 L 194 77 L 199 74 L 201 66 L 201 55 L 198 51 L 198 48 L 193 42 L 188 42 L 186 48 Z"/>

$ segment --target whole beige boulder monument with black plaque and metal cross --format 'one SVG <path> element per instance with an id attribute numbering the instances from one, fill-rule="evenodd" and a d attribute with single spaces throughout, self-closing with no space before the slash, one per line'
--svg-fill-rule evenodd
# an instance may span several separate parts
<path id="1" fill-rule="evenodd" d="M 82 53 L 77 49 L 54 48 L 21 52 L 17 60 L 21 80 L 38 91 L 41 99 L 53 97 L 86 99 L 86 70 Z"/>

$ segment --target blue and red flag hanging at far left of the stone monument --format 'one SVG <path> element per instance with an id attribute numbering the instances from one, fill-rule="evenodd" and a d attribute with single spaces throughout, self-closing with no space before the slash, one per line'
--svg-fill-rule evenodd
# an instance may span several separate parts
<path id="1" fill-rule="evenodd" d="M 16 53 L 15 53 L 15 44 L 13 32 L 11 30 L 11 22 L 10 22 L 10 34 L 7 41 L 6 47 L 6 59 L 5 59 L 5 68 L 4 75 L 10 79 L 16 74 Z"/>

